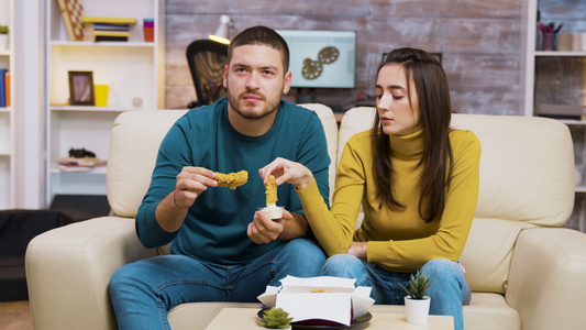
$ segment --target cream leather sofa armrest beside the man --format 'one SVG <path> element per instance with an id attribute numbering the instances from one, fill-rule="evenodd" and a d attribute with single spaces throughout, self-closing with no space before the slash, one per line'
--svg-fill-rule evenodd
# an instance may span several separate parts
<path id="1" fill-rule="evenodd" d="M 153 255 L 129 218 L 95 218 L 37 235 L 25 258 L 34 329 L 117 329 L 110 277 Z"/>

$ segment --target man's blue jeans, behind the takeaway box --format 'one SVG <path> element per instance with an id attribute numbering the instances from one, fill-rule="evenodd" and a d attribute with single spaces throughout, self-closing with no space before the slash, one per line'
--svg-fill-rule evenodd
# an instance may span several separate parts
<path id="1" fill-rule="evenodd" d="M 185 255 L 128 264 L 110 279 L 110 299 L 124 329 L 170 329 L 167 310 L 184 302 L 258 301 L 267 285 L 287 275 L 318 276 L 325 255 L 313 241 L 296 239 L 250 264 L 220 265 Z"/>

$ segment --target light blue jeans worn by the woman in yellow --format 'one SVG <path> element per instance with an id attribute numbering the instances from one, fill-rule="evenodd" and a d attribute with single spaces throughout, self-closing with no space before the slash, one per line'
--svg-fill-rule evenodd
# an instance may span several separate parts
<path id="1" fill-rule="evenodd" d="M 432 277 L 425 296 L 431 297 L 430 314 L 454 317 L 454 329 L 464 329 L 463 305 L 469 305 L 472 292 L 458 263 L 434 258 L 420 271 Z M 411 273 L 394 273 L 383 266 L 368 263 L 350 254 L 332 255 L 325 261 L 321 275 L 356 278 L 356 286 L 373 288 L 375 304 L 405 305 L 405 290 L 397 284 L 409 287 Z"/>

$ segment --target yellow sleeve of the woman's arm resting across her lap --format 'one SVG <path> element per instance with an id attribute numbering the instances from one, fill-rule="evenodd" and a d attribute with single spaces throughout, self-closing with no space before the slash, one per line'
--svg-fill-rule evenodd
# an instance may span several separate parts
<path id="1" fill-rule="evenodd" d="M 458 261 L 468 238 L 479 189 L 480 142 L 471 131 L 453 145 L 454 168 L 438 232 L 405 241 L 369 241 L 368 262 L 419 270 L 433 258 Z"/>

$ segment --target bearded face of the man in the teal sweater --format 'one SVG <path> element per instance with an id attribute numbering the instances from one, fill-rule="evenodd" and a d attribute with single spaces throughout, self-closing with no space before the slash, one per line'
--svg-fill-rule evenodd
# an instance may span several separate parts
<path id="1" fill-rule="evenodd" d="M 279 51 L 268 46 L 239 46 L 224 68 L 229 108 L 244 119 L 274 114 L 290 85 L 291 73 L 284 73 Z"/>

